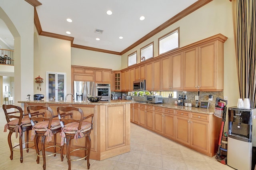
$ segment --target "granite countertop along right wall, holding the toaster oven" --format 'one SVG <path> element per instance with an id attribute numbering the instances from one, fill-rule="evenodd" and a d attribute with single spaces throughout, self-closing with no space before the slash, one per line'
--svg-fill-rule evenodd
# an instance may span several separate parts
<path id="1" fill-rule="evenodd" d="M 203 113 L 203 114 L 208 114 L 208 115 L 214 114 L 214 109 L 202 109 L 199 107 L 186 107 L 186 106 L 178 106 L 178 105 L 166 104 L 166 103 L 162 103 L 162 104 L 140 103 L 140 102 L 136 102 L 136 103 L 142 104 L 142 105 L 155 106 L 155 107 L 163 107 L 163 108 L 168 108 L 168 109 L 191 111 L 191 112 Z"/>

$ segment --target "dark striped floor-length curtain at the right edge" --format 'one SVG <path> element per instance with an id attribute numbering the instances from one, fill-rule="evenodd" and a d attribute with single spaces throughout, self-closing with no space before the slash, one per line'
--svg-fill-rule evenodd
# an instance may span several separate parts
<path id="1" fill-rule="evenodd" d="M 240 98 L 256 107 L 256 2 L 232 0 L 232 8 Z"/>

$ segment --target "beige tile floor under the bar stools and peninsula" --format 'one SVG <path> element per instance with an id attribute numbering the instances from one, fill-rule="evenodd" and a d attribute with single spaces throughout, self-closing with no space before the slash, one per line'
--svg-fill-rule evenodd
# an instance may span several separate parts
<path id="1" fill-rule="evenodd" d="M 42 170 L 42 158 L 36 164 L 36 152 L 30 149 L 23 152 L 23 163 L 20 153 L 14 152 L 10 160 L 10 149 L 7 142 L 8 132 L 4 131 L 6 119 L 0 108 L 0 170 Z M 13 143 L 18 143 L 12 135 Z M 72 170 L 87 169 L 86 161 L 72 161 Z M 90 170 L 232 170 L 218 162 L 214 157 L 200 154 L 190 148 L 177 144 L 145 128 L 131 123 L 131 151 L 106 160 L 90 159 Z M 60 154 L 46 157 L 47 170 L 67 170 L 66 157 L 60 161 Z"/>

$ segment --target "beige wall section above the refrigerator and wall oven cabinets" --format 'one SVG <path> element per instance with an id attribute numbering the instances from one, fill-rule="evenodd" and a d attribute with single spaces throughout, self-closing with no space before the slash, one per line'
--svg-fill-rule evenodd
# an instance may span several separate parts
<path id="1" fill-rule="evenodd" d="M 99 67 L 113 70 L 120 70 L 121 68 L 120 55 L 71 48 L 71 56 L 72 65 Z"/>

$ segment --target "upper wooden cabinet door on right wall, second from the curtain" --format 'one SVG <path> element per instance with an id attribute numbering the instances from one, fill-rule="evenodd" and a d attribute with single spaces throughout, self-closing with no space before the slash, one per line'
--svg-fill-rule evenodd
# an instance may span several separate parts
<path id="1" fill-rule="evenodd" d="M 187 49 L 184 55 L 184 73 L 183 73 L 183 89 L 197 90 L 198 89 L 198 57 L 197 47 Z"/>

